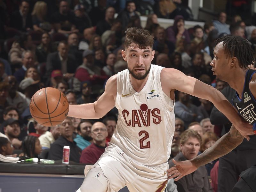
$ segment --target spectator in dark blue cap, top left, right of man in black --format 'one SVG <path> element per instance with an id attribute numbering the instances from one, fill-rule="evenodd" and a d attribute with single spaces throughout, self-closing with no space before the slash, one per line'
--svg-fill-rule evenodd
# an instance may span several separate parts
<path id="1" fill-rule="evenodd" d="M 83 34 L 84 29 L 92 27 L 92 21 L 84 10 L 83 4 L 77 4 L 74 7 L 74 23 L 79 33 Z"/>

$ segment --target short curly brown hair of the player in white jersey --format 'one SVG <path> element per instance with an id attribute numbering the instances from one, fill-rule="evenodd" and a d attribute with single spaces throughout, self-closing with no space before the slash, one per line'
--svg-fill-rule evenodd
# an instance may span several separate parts
<path id="1" fill-rule="evenodd" d="M 146 47 L 153 49 L 154 36 L 150 35 L 148 30 L 131 27 L 125 31 L 125 34 L 124 48 L 137 44 L 140 49 L 146 49 Z"/>

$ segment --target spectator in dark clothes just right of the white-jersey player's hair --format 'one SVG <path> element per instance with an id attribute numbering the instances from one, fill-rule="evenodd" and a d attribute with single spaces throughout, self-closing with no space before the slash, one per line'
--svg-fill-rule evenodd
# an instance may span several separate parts
<path id="1" fill-rule="evenodd" d="M 153 49 L 156 53 L 166 53 L 169 56 L 174 51 L 174 44 L 166 40 L 165 29 L 163 27 L 156 28 L 156 39 L 153 44 Z"/>

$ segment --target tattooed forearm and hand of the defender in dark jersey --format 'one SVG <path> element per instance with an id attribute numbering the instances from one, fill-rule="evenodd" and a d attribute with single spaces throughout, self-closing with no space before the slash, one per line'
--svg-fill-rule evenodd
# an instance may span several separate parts
<path id="1" fill-rule="evenodd" d="M 177 177 L 177 181 L 185 175 L 188 175 L 202 165 L 205 165 L 213 160 L 228 154 L 244 140 L 244 136 L 232 125 L 230 131 L 223 135 L 216 143 L 206 149 L 202 154 L 187 161 L 173 161 L 175 166 L 171 167 L 167 172 L 168 178 Z"/>

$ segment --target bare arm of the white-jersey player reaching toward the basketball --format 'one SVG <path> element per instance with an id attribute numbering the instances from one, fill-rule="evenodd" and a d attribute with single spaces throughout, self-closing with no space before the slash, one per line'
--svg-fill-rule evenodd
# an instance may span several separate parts
<path id="1" fill-rule="evenodd" d="M 69 105 L 68 116 L 81 119 L 99 119 L 115 107 L 116 93 L 117 75 L 114 75 L 108 79 L 105 91 L 97 101 L 82 105 Z"/>

